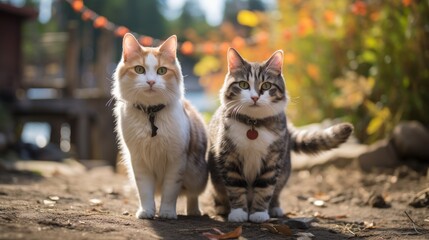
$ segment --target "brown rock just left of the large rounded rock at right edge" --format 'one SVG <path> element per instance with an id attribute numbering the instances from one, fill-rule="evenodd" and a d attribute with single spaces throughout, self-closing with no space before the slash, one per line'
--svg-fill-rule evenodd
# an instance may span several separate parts
<path id="1" fill-rule="evenodd" d="M 393 168 L 400 164 L 393 143 L 388 140 L 380 140 L 369 146 L 367 152 L 358 157 L 358 161 L 364 171 L 373 168 Z"/>

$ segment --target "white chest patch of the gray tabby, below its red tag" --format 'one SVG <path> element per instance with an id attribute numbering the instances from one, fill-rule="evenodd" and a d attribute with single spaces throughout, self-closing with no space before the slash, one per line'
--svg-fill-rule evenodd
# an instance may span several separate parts
<path id="1" fill-rule="evenodd" d="M 276 135 L 265 127 L 258 127 L 258 137 L 254 140 L 247 138 L 251 127 L 230 120 L 228 137 L 236 144 L 237 152 L 242 157 L 243 174 L 248 182 L 253 182 L 262 167 L 262 159 L 268 153 L 269 145 L 276 140 Z"/>

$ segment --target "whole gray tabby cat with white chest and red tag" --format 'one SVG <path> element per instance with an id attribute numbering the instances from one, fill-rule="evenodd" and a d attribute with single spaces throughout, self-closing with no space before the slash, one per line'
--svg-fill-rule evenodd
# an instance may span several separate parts
<path id="1" fill-rule="evenodd" d="M 288 126 L 283 52 L 263 63 L 229 49 L 221 106 L 209 124 L 208 164 L 218 214 L 228 221 L 264 222 L 283 216 L 280 191 L 290 172 L 290 151 L 317 153 L 339 146 L 353 131 L 342 123 L 305 132 Z"/>

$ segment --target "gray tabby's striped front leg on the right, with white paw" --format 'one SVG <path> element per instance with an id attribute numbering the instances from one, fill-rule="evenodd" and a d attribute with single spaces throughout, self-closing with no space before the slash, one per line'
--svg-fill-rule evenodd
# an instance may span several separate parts
<path id="1" fill-rule="evenodd" d="M 267 177 L 272 176 L 272 177 Z M 261 223 L 270 219 L 268 207 L 274 193 L 276 178 L 274 173 L 263 174 L 259 176 L 253 183 L 253 201 L 250 208 L 251 214 L 249 220 L 251 222 Z"/>

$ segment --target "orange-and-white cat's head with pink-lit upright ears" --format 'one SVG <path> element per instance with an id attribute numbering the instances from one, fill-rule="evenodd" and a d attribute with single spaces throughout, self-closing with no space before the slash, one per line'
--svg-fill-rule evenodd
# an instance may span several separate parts
<path id="1" fill-rule="evenodd" d="M 122 47 L 122 59 L 115 72 L 115 94 L 122 100 L 153 105 L 166 104 L 182 96 L 176 36 L 151 48 L 141 46 L 132 34 L 126 34 Z"/>

